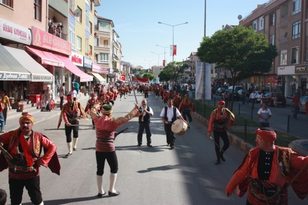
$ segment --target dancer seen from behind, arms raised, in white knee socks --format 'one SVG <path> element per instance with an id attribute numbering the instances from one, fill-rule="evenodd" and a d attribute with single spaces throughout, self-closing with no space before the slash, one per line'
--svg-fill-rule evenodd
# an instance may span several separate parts
<path id="1" fill-rule="evenodd" d="M 115 130 L 123 123 L 133 119 L 133 117 L 139 116 L 138 104 L 131 112 L 124 117 L 112 117 L 113 108 L 109 104 L 102 106 L 102 116 L 97 112 L 101 106 L 101 102 L 97 102 L 91 108 L 90 115 L 94 120 L 96 129 L 96 182 L 98 184 L 98 197 L 102 197 L 106 194 L 102 186 L 102 175 L 104 173 L 104 161 L 107 160 L 110 167 L 110 184 L 109 184 L 109 196 L 117 196 L 120 192 L 115 191 L 115 181 L 118 173 L 118 158 L 115 154 Z"/>

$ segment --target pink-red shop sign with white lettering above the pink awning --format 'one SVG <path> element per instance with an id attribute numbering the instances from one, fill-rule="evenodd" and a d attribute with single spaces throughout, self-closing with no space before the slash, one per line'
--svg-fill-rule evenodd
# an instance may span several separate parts
<path id="1" fill-rule="evenodd" d="M 71 56 L 72 54 L 72 44 L 58 36 L 54 36 L 33 26 L 32 36 L 32 45 L 36 47 L 63 53 L 67 56 Z"/>

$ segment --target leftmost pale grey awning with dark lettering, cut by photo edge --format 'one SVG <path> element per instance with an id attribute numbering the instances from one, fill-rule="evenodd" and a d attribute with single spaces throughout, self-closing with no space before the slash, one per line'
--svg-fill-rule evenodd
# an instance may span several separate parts
<path id="1" fill-rule="evenodd" d="M 31 80 L 31 74 L 0 44 L 0 80 Z"/>

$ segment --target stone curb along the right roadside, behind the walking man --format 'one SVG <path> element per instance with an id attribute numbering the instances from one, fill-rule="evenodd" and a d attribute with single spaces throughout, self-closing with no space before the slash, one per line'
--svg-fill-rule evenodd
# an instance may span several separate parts
<path id="1" fill-rule="evenodd" d="M 197 120 L 201 121 L 201 123 L 205 126 L 208 125 L 208 120 L 205 117 L 202 117 L 197 112 L 191 112 L 192 116 L 195 117 Z M 207 129 L 207 128 L 206 128 Z M 243 152 L 248 153 L 250 149 L 254 148 L 253 145 L 250 143 L 245 143 L 242 138 L 232 134 L 231 132 L 227 132 L 229 136 L 230 143 L 236 147 L 237 149 L 241 149 Z"/>

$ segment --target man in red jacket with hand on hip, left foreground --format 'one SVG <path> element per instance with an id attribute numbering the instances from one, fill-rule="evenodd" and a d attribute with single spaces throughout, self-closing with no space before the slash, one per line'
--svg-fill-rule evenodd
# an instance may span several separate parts
<path id="1" fill-rule="evenodd" d="M 5 147 L 0 147 L 0 171 L 8 168 L 11 204 L 21 204 L 24 187 L 32 204 L 43 204 L 39 167 L 50 167 L 60 175 L 56 145 L 42 133 L 34 132 L 33 125 L 34 117 L 25 114 L 19 118 L 17 130 L 0 136 L 0 145 Z"/>

